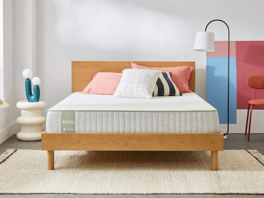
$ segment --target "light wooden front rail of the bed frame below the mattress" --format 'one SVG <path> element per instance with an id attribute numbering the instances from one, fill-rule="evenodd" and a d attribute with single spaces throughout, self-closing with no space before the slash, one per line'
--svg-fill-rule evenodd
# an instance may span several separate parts
<path id="1" fill-rule="evenodd" d="M 223 150 L 223 134 L 43 133 L 42 150 Z"/>

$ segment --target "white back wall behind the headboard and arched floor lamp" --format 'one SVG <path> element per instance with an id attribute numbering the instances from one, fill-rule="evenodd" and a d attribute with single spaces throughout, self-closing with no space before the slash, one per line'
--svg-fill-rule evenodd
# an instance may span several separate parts
<path id="1" fill-rule="evenodd" d="M 34 34 L 19 33 L 20 23 L 34 32 L 30 1 L 34 7 L 34 0 L 14 0 L 15 101 L 25 98 L 22 70 L 30 64 L 34 70 Z M 263 6 L 263 0 L 37 0 L 41 99 L 48 109 L 71 93 L 72 60 L 196 61 L 196 93 L 205 99 L 206 54 L 193 50 L 195 33 L 212 19 L 222 19 L 230 27 L 230 40 L 264 40 Z M 216 41 L 227 40 L 220 22 L 208 31 L 215 33 Z M 18 115 L 14 110 L 14 118 Z"/>

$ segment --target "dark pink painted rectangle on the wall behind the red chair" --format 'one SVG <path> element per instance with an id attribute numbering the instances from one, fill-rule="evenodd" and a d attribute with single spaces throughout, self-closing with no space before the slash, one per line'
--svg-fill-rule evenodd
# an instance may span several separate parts
<path id="1" fill-rule="evenodd" d="M 247 78 L 264 75 L 264 41 L 236 42 L 237 109 L 247 109 L 248 100 L 253 98 L 253 89 L 248 87 Z M 264 99 L 264 90 L 256 90 L 255 99 Z M 254 106 L 254 109 L 264 109 Z"/>

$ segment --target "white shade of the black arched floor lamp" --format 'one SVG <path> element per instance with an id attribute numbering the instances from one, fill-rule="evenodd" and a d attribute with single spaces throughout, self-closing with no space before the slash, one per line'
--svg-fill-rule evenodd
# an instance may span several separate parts
<path id="1" fill-rule="evenodd" d="M 194 43 L 196 51 L 214 51 L 214 34 L 212 32 L 197 32 Z"/>

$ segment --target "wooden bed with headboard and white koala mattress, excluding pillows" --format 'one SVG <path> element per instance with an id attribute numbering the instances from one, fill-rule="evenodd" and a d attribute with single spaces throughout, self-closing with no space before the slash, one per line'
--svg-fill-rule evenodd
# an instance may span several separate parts
<path id="1" fill-rule="evenodd" d="M 190 89 L 195 91 L 195 62 L 137 63 L 149 67 L 191 66 L 194 69 Z M 218 133 L 217 110 L 195 93 L 183 94 L 184 98 L 175 101 L 172 100 L 174 97 L 118 101 L 112 96 L 78 93 L 92 80 L 92 74 L 122 72 L 126 68 L 131 68 L 130 62 L 72 61 L 72 94 L 49 109 L 47 131 L 42 134 L 42 150 L 48 151 L 48 170 L 54 169 L 54 150 L 209 150 L 211 170 L 218 170 L 218 151 L 223 150 L 223 134 Z M 189 100 L 195 101 L 193 106 L 187 105 Z M 157 106 L 155 111 L 153 105 Z M 71 127 L 73 131 L 68 131 L 73 133 L 63 132 L 60 127 L 62 114 L 70 116 L 66 111 L 74 112 L 70 115 L 80 123 Z M 89 116 L 96 117 L 96 121 L 91 121 L 92 118 L 89 121 Z M 184 122 L 188 116 L 192 119 Z M 182 121 L 179 122 L 178 118 Z"/>

